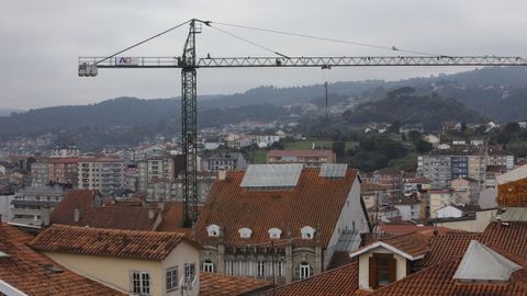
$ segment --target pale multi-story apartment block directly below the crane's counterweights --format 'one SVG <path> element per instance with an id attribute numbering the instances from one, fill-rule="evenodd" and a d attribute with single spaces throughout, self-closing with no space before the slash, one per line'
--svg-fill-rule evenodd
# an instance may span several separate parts
<path id="1" fill-rule="evenodd" d="M 78 167 L 78 187 L 110 195 L 123 187 L 124 161 L 116 158 L 82 159 Z"/>

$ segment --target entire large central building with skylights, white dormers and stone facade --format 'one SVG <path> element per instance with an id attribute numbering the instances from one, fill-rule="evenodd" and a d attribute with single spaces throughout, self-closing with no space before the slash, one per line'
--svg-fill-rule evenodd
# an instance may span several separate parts
<path id="1" fill-rule="evenodd" d="M 195 229 L 203 271 L 289 283 L 326 271 L 370 226 L 357 170 L 295 163 L 221 173 Z"/>

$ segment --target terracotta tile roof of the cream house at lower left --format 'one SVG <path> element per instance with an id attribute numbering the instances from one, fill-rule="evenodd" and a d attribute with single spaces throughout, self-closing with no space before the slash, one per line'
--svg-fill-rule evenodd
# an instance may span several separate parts
<path id="1" fill-rule="evenodd" d="M 164 260 L 183 240 L 195 246 L 183 234 L 177 232 L 53 225 L 38 234 L 30 246 L 47 252 Z"/>

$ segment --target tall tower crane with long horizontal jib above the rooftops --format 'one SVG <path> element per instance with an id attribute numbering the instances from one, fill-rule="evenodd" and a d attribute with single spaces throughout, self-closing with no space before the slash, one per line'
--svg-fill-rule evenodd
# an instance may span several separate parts
<path id="1" fill-rule="evenodd" d="M 176 57 L 120 57 L 119 55 L 173 29 L 190 24 L 181 56 Z M 198 206 L 198 151 L 197 151 L 197 70 L 200 68 L 306 68 L 333 67 L 408 67 L 408 66 L 527 66 L 527 59 L 519 56 L 318 56 L 298 57 L 274 53 L 266 57 L 204 57 L 195 55 L 195 35 L 202 25 L 213 22 L 191 19 L 148 39 L 135 44 L 109 57 L 79 57 L 80 77 L 94 77 L 104 68 L 176 68 L 181 69 L 181 146 L 186 169 L 182 180 L 183 225 L 197 221 Z M 392 46 L 391 50 L 400 50 Z"/>

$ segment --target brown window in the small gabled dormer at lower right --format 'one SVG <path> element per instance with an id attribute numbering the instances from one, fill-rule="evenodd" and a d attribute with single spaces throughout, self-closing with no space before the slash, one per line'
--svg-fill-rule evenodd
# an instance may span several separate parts
<path id="1" fill-rule="evenodd" d="M 374 253 L 369 260 L 369 282 L 372 288 L 395 282 L 396 262 L 393 254 Z"/>

